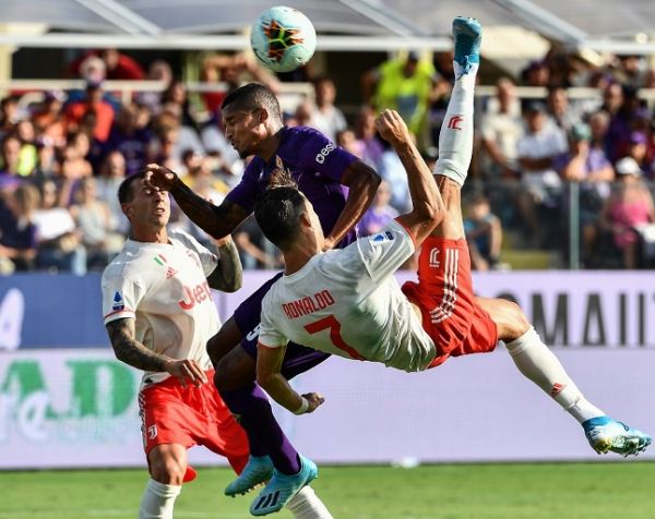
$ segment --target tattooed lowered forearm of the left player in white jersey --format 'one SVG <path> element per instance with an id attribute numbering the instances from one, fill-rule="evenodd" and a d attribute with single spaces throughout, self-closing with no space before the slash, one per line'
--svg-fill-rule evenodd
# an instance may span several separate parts
<path id="1" fill-rule="evenodd" d="M 203 370 L 191 359 L 171 359 L 148 350 L 134 338 L 133 318 L 122 318 L 107 323 L 107 334 L 116 358 L 132 367 L 143 371 L 167 372 L 186 385 L 187 378 L 195 385 L 204 384 L 207 378 Z"/>

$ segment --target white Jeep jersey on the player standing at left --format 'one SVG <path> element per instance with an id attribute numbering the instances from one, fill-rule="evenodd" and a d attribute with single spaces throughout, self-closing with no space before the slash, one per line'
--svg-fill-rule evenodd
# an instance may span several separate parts
<path id="1" fill-rule="evenodd" d="M 134 317 L 135 339 L 172 359 L 193 359 L 210 369 L 207 340 L 219 321 L 206 277 L 218 258 L 183 231 L 168 233 L 169 243 L 128 240 L 103 273 L 105 324 Z M 168 373 L 146 372 L 143 385 Z"/>

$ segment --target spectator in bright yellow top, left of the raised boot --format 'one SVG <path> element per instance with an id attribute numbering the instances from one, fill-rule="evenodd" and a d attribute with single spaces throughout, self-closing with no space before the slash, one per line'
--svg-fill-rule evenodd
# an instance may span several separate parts
<path id="1" fill-rule="evenodd" d="M 403 59 L 392 59 L 362 77 L 364 100 L 376 111 L 397 110 L 414 135 L 425 128 L 428 104 L 438 84 L 434 65 L 410 51 Z"/>

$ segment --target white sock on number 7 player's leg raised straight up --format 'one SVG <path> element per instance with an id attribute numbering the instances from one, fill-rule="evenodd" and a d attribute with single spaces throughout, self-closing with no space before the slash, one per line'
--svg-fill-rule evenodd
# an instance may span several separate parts
<path id="1" fill-rule="evenodd" d="M 455 70 L 460 67 L 454 63 Z M 434 174 L 464 185 L 473 155 L 473 105 L 477 64 L 455 81 L 445 118 L 439 132 L 439 158 Z"/>

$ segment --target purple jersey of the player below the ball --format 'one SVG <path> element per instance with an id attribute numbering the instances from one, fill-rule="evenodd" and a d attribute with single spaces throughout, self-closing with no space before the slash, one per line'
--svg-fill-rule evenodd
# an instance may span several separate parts
<path id="1" fill-rule="evenodd" d="M 348 166 L 358 159 L 311 128 L 284 126 L 281 131 L 282 137 L 275 155 L 290 170 L 298 189 L 313 205 L 323 232 L 327 234 L 346 205 L 341 179 Z M 241 182 L 226 198 L 247 212 L 252 212 L 258 196 L 265 191 L 274 168 L 275 156 L 269 162 L 254 157 L 246 168 Z M 340 246 L 352 243 L 355 238 L 355 231 L 350 230 Z"/>

